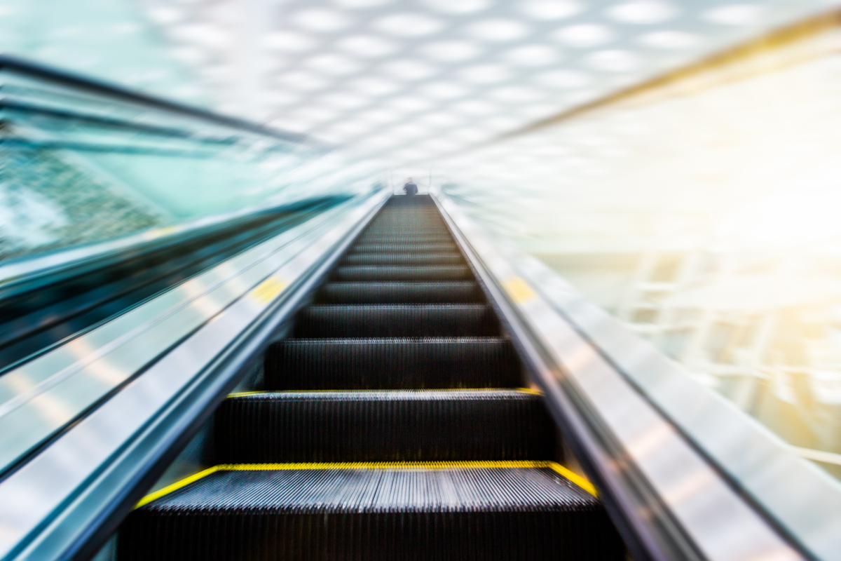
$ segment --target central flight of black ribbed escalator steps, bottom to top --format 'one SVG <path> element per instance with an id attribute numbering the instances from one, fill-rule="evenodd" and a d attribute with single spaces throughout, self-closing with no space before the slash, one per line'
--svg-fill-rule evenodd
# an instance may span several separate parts
<path id="1" fill-rule="evenodd" d="M 624 558 L 431 198 L 392 197 L 311 298 L 121 561 Z"/>

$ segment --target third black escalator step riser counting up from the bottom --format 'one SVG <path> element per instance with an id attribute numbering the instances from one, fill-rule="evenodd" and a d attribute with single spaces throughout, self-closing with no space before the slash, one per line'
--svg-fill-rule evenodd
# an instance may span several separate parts
<path id="1" fill-rule="evenodd" d="M 264 360 L 267 389 L 515 388 L 520 365 L 502 337 L 284 339 Z"/>

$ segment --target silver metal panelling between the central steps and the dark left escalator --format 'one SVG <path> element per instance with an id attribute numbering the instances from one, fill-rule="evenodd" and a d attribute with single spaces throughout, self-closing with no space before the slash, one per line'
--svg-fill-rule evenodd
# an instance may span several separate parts
<path id="1" fill-rule="evenodd" d="M 50 532 L 41 532 L 34 542 L 28 537 L 44 525 L 60 524 L 61 517 L 54 516 L 61 515 L 62 505 L 69 509 L 85 500 L 86 493 L 119 493 L 108 486 L 88 489 L 85 483 L 103 470 L 108 474 L 109 462 L 119 458 L 126 443 L 164 415 L 198 373 L 385 196 L 377 193 L 343 205 L 246 251 L 196 278 L 196 283 L 151 300 L 149 308 L 141 306 L 136 314 L 91 332 L 91 337 L 80 337 L 70 349 L 56 349 L 56 356 L 45 355 L 39 368 L 13 378 L 18 385 L 6 385 L 6 415 L 0 422 L 11 423 L 18 413 L 14 427 L 34 430 L 14 438 L 9 435 L 14 427 L 4 425 L 6 458 L 11 458 L 7 450 L 23 450 L 108 390 L 128 378 L 130 382 L 0 484 L 0 558 L 42 558 L 44 548 L 50 547 Z M 131 378 L 161 352 L 166 354 Z"/>

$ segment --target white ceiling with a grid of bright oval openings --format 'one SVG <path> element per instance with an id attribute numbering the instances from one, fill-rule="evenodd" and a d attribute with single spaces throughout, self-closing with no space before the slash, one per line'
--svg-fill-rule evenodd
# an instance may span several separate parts
<path id="1" fill-rule="evenodd" d="M 435 161 L 685 64 L 791 0 L 147 0 L 220 109 Z"/>

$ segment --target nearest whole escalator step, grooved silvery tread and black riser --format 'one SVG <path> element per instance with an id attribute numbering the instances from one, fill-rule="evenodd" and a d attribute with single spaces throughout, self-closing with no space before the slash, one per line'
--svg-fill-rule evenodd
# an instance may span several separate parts
<path id="1" fill-rule="evenodd" d="M 133 511 L 118 550 L 121 561 L 623 555 L 595 497 L 548 467 L 231 466 Z"/>

